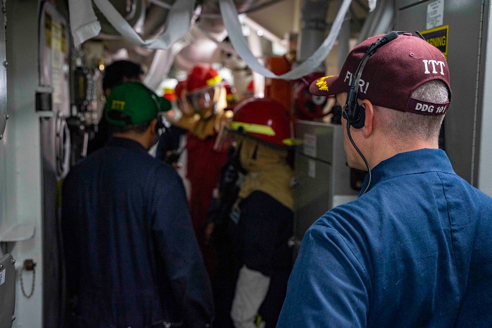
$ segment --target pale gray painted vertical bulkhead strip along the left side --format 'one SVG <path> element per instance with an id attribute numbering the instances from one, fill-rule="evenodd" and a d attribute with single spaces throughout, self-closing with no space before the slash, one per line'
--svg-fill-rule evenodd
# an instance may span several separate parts
<path id="1" fill-rule="evenodd" d="M 41 2 L 41 0 L 39 0 Z M 5 184 L 0 193 L 7 195 L 8 226 L 32 223 L 36 227 L 33 239 L 17 243 L 11 249 L 18 265 L 32 259 L 36 266 L 35 290 L 31 298 L 22 295 L 17 279 L 16 317 L 13 327 L 43 327 L 43 256 L 41 209 L 41 154 L 39 116 L 35 111 L 38 90 L 38 17 L 39 2 L 8 0 L 5 2 L 9 25 L 6 30 L 8 113 L 7 134 L 1 140 L 8 154 L 5 161 Z M 13 24 L 15 23 L 15 24 Z M 46 92 L 46 90 L 44 90 Z M 0 170 L 1 171 L 1 170 Z M 2 223 L 3 225 L 3 223 Z M 31 274 L 26 274 L 25 282 Z M 25 286 L 28 287 L 28 286 Z M 29 287 L 28 287 L 29 288 Z"/>

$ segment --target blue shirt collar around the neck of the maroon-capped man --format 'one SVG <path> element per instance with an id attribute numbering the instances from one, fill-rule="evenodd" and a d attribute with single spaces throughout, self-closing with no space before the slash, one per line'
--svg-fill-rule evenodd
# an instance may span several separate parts
<path id="1" fill-rule="evenodd" d="M 442 149 L 418 149 L 400 152 L 393 157 L 385 159 L 371 169 L 371 181 L 369 189 L 387 179 L 408 174 L 425 172 L 443 172 L 456 174 L 449 161 L 448 156 Z M 366 175 L 362 184 L 362 191 L 366 189 L 369 175 Z M 361 195 L 359 195 L 360 197 Z"/>

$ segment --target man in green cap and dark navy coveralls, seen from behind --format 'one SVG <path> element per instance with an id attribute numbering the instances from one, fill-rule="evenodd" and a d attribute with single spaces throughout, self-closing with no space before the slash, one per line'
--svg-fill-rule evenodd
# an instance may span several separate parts
<path id="1" fill-rule="evenodd" d="M 148 154 L 170 103 L 141 83 L 107 98 L 112 138 L 63 183 L 68 327 L 209 327 L 212 292 L 176 171 Z"/>

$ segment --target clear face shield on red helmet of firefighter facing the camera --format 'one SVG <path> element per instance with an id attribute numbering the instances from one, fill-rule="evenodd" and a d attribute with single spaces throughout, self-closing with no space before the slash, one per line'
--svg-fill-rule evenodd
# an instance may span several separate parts
<path id="1" fill-rule="evenodd" d="M 194 113 L 209 119 L 216 111 L 222 88 L 220 85 L 198 89 L 186 94 L 186 100 Z"/>

